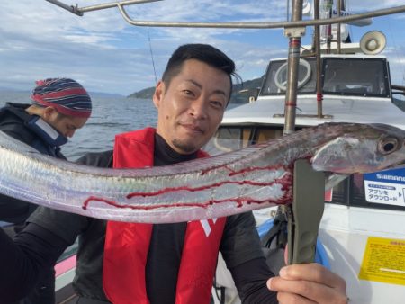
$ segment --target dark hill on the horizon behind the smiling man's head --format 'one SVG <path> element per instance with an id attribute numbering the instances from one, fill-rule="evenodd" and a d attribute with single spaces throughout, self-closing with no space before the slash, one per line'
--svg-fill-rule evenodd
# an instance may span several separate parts
<path id="1" fill-rule="evenodd" d="M 248 103 L 249 96 L 257 95 L 257 89 L 262 86 L 263 76 L 244 81 L 242 84 L 233 86 L 230 103 Z M 128 98 L 151 99 L 155 92 L 155 86 L 148 87 L 128 95 Z"/>

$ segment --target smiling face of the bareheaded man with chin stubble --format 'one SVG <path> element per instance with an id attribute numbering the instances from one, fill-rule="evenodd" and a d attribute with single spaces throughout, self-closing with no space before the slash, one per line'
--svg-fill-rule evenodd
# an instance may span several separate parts
<path id="1" fill-rule="evenodd" d="M 153 102 L 157 134 L 181 154 L 202 148 L 220 125 L 229 100 L 229 76 L 220 69 L 190 59 L 168 87 L 159 82 Z"/>

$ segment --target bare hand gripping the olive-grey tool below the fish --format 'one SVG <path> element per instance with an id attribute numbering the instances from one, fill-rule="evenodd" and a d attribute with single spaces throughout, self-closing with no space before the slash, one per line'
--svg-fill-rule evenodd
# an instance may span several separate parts
<path id="1" fill-rule="evenodd" d="M 283 267 L 280 276 L 267 281 L 280 304 L 347 304 L 346 282 L 320 264 Z"/>

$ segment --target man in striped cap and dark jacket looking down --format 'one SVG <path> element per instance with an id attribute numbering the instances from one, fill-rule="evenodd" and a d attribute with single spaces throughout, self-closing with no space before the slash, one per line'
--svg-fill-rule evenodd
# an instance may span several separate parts
<path id="1" fill-rule="evenodd" d="M 43 154 L 66 159 L 60 146 L 85 125 L 92 104 L 85 88 L 68 78 L 49 78 L 36 82 L 33 103 L 7 103 L 0 109 L 0 130 L 36 148 Z M 37 205 L 0 195 L 0 220 L 10 236 L 22 230 L 25 220 Z M 24 304 L 55 302 L 55 273 L 40 272 L 37 288 L 22 301 Z M 0 300 L 1 302 L 1 300 Z"/>

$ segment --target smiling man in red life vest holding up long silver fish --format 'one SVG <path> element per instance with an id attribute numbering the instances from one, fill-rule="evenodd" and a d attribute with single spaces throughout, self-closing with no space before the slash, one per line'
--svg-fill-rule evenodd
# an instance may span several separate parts
<path id="1" fill-rule="evenodd" d="M 220 125 L 234 73 L 233 61 L 219 49 L 181 46 L 169 59 L 153 96 L 157 129 L 120 134 L 113 152 L 89 154 L 81 162 L 143 167 L 206 156 L 201 148 Z M 79 236 L 77 303 L 208 304 L 219 250 L 244 303 L 276 303 L 274 291 L 281 302 L 347 300 L 345 282 L 316 264 L 291 265 L 275 277 L 266 265 L 251 212 L 150 225 L 106 222 L 40 208 L 29 222 L 14 239 L 17 246 L 0 231 L 2 267 L 8 271 L 22 261 L 27 263 L 22 267 L 24 275 L 14 271 L 7 282 L 0 273 L 0 297 L 11 299 L 27 292 L 35 270 L 53 264 Z M 210 228 L 204 230 L 202 225 Z M 28 246 L 28 252 L 19 254 Z"/>

